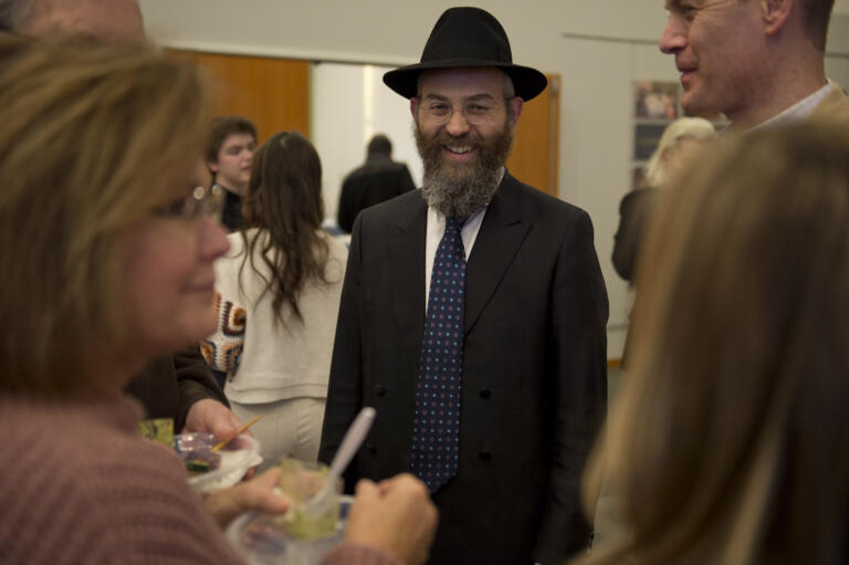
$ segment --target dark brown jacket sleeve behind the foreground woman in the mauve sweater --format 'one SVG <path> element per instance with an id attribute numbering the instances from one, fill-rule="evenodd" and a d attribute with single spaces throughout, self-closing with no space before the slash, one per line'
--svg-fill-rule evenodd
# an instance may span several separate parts
<path id="1" fill-rule="evenodd" d="M 191 405 L 203 398 L 230 406 L 197 347 L 151 359 L 125 389 L 145 408 L 145 418 L 174 418 L 174 431 L 186 425 Z"/>

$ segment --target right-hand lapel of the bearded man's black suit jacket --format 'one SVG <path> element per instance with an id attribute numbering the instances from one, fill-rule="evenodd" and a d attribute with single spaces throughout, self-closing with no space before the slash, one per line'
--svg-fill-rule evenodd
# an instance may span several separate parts
<path id="1" fill-rule="evenodd" d="M 522 208 L 518 181 L 505 174 L 486 208 L 465 265 L 465 335 L 474 327 L 531 229 Z"/>

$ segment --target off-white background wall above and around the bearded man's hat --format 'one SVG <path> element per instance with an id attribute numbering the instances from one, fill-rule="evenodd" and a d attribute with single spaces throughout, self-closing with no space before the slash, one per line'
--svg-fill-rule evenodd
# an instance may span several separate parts
<path id="1" fill-rule="evenodd" d="M 160 43 L 216 52 L 311 61 L 418 61 L 446 0 L 140 0 L 150 36 Z M 665 25 L 662 0 L 486 0 L 511 39 L 513 59 L 563 77 L 560 197 L 584 209 L 610 296 L 609 355 L 621 353 L 629 296 L 610 264 L 618 202 L 630 185 L 631 82 L 675 81 L 672 61 L 654 42 Z M 838 0 L 847 9 L 849 0 Z M 849 10 L 847 10 L 849 11 Z M 649 42 L 650 44 L 644 44 Z M 849 17 L 835 15 L 829 75 L 849 86 Z M 313 139 L 325 166 L 325 198 L 335 211 L 340 175 L 364 156 L 364 81 L 356 67 L 317 65 L 313 74 Z M 338 72 L 338 74 L 334 74 Z M 359 74 L 358 74 L 359 73 Z M 375 73 L 379 80 L 379 73 Z M 387 127 L 396 154 L 418 166 L 403 98 L 376 83 L 375 132 Z M 407 114 L 405 114 L 407 113 Z M 400 124 L 400 125 L 399 125 Z M 420 178 L 420 169 L 413 174 Z"/>

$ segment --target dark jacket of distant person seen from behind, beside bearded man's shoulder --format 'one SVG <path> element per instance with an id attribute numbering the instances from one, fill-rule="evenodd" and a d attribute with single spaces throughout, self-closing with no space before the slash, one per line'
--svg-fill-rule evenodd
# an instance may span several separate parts
<path id="1" fill-rule="evenodd" d="M 407 165 L 381 155 L 369 157 L 342 182 L 336 215 L 339 228 L 350 233 L 360 211 L 415 189 Z"/>

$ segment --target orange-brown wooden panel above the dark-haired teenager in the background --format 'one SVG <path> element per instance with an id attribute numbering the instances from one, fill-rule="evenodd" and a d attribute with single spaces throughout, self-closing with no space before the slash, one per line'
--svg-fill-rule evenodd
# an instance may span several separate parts
<path id="1" fill-rule="evenodd" d="M 218 115 L 256 124 L 259 142 L 280 130 L 310 137 L 310 62 L 169 50 L 206 67 L 218 83 Z"/>

